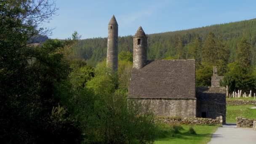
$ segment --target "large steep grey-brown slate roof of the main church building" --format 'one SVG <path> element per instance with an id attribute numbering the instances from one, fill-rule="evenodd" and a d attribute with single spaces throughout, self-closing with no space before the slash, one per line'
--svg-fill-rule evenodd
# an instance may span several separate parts
<path id="1" fill-rule="evenodd" d="M 128 98 L 195 98 L 195 59 L 155 60 L 133 68 Z"/>

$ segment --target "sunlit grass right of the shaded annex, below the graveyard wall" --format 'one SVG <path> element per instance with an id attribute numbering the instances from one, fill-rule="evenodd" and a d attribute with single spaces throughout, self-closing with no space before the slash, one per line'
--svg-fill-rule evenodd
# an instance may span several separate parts
<path id="1" fill-rule="evenodd" d="M 236 117 L 256 118 L 256 109 L 250 109 L 254 105 L 227 106 L 226 123 L 236 123 Z"/>

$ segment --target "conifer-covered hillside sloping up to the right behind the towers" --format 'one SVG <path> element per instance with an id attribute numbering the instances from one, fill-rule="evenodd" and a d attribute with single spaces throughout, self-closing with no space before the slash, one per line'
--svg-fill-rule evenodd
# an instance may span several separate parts
<path id="1" fill-rule="evenodd" d="M 107 29 L 106 29 L 107 30 Z M 136 29 L 134 29 L 134 33 Z M 216 37 L 221 35 L 221 39 L 229 49 L 229 63 L 235 61 L 237 43 L 242 38 L 243 33 L 252 46 L 252 64 L 256 64 L 256 19 L 232 22 L 228 24 L 216 24 L 208 27 L 181 30 L 175 32 L 165 32 L 148 35 L 148 59 L 165 59 L 175 57 L 177 54 L 177 44 L 179 38 L 184 48 L 184 59 L 195 59 L 193 55 L 193 42 L 196 37 L 200 44 L 203 44 L 206 35 L 213 32 Z M 146 31 L 147 33 L 147 31 Z M 132 53 L 132 36 L 119 37 L 118 52 L 130 51 Z M 96 65 L 107 55 L 107 38 L 91 38 L 80 40 L 74 47 L 72 58 L 85 59 L 88 64 Z"/>

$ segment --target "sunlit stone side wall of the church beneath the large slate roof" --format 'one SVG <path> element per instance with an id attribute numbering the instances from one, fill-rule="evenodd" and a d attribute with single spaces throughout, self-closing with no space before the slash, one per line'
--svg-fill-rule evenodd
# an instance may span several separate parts
<path id="1" fill-rule="evenodd" d="M 135 99 L 133 99 L 135 100 Z M 195 117 L 196 99 L 136 99 L 159 117 Z"/>

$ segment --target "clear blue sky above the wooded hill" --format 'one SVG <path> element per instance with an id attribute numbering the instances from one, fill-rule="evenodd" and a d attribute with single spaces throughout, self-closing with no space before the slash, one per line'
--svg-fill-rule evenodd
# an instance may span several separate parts
<path id="1" fill-rule="evenodd" d="M 59 8 L 45 27 L 51 38 L 65 39 L 76 30 L 82 39 L 107 37 L 114 14 L 119 36 L 191 29 L 256 18 L 256 0 L 56 0 Z"/>

